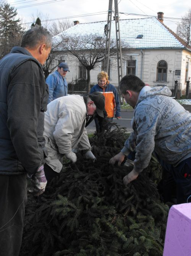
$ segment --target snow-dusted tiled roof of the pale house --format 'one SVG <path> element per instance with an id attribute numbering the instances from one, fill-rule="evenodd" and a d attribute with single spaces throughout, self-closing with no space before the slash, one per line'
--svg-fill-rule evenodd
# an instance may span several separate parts
<path id="1" fill-rule="evenodd" d="M 75 35 L 96 34 L 105 37 L 104 26 L 107 21 L 79 23 L 53 37 L 53 42 L 60 41 L 60 35 L 74 37 Z M 143 35 L 137 39 L 138 35 Z M 121 41 L 128 43 L 130 48 L 190 48 L 186 42 L 178 38 L 172 30 L 163 25 L 157 18 L 141 18 L 120 20 Z M 111 39 L 116 40 L 115 21 L 112 20 Z"/>

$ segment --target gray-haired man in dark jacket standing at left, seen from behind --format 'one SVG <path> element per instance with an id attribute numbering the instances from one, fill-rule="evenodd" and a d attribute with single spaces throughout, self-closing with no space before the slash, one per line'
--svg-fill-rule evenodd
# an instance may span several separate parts
<path id="1" fill-rule="evenodd" d="M 47 59 L 52 36 L 43 27 L 24 34 L 21 47 L 15 46 L 0 60 L 0 250 L 1 255 L 19 254 L 26 177 L 31 192 L 45 190 L 44 111 L 47 110 L 42 64 Z"/>

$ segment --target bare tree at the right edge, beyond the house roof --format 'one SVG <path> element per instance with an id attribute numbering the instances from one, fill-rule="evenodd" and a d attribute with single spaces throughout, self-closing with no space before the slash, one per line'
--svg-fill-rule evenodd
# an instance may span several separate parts
<path id="1" fill-rule="evenodd" d="M 180 36 L 183 40 L 187 42 L 188 45 L 191 45 L 190 40 L 190 30 L 191 30 L 191 8 L 188 12 L 182 17 L 182 21 L 177 25 L 177 35 Z"/>

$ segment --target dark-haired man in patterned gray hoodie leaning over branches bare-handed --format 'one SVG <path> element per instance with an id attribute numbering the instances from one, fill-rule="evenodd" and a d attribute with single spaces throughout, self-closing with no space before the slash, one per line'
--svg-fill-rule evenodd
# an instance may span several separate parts
<path id="1" fill-rule="evenodd" d="M 170 97 L 168 87 L 145 86 L 137 76 L 124 76 L 119 90 L 134 108 L 133 132 L 110 164 L 120 165 L 136 151 L 134 168 L 123 178 L 127 185 L 149 165 L 154 152 L 175 180 L 177 203 L 186 203 L 191 195 L 191 114 Z"/>

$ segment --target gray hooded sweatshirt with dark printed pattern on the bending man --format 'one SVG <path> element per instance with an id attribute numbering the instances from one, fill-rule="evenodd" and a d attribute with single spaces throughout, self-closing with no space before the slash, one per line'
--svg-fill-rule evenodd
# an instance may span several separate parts
<path id="1" fill-rule="evenodd" d="M 152 152 L 167 164 L 178 165 L 191 157 L 191 114 L 169 97 L 168 87 L 144 86 L 132 122 L 133 132 L 121 152 L 136 150 L 134 170 L 149 165 Z"/>

